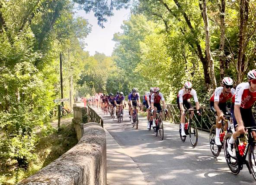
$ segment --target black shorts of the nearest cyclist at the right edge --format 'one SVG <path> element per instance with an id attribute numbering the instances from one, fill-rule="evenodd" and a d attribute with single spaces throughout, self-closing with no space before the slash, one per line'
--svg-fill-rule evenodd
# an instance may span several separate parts
<path id="1" fill-rule="evenodd" d="M 256 121 L 253 116 L 252 108 L 240 108 L 243 124 L 245 127 L 256 126 Z M 234 127 L 237 126 L 237 120 L 234 114 L 234 103 L 231 105 L 231 114 L 233 118 Z"/>

